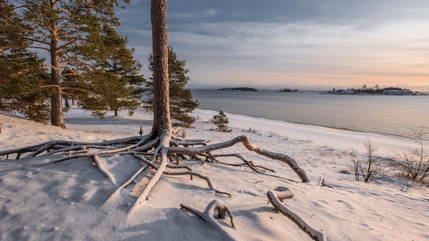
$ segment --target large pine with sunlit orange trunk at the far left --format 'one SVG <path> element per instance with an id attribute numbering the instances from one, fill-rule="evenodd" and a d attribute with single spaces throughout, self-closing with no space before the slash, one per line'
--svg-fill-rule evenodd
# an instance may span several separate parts
<path id="1" fill-rule="evenodd" d="M 129 0 L 124 0 L 129 2 Z M 51 123 L 65 128 L 63 94 L 97 98 L 84 75 L 95 69 L 95 62 L 106 57 L 103 29 L 117 27 L 114 7 L 119 0 L 1 0 L 1 49 L 40 49 L 49 53 Z M 5 8 L 3 8 L 5 7 Z M 3 10 L 5 14 L 3 14 Z M 3 29 L 4 25 L 17 26 Z M 5 45 L 3 45 L 5 43 Z M 64 72 L 67 70 L 66 72 Z M 76 81 L 64 81 L 64 75 Z M 80 80 L 80 81 L 79 81 Z M 79 95 L 75 92 L 80 91 Z M 91 100 L 91 98 L 88 98 Z M 82 99 L 85 101 L 86 99 Z"/>

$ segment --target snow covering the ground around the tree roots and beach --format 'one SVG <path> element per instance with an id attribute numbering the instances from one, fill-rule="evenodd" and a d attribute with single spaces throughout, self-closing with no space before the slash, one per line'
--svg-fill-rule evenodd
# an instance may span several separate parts
<path id="1" fill-rule="evenodd" d="M 139 136 L 140 127 L 149 133 L 151 112 L 139 109 L 134 116 L 120 114 L 99 119 L 72 107 L 65 115 L 67 129 L 60 129 L 0 113 L 0 151 L 49 140 L 101 142 Z M 367 139 L 380 155 L 417 147 L 415 141 L 228 113 L 233 131 L 222 133 L 212 130 L 215 125 L 208 121 L 217 112 L 195 110 L 193 114 L 199 118 L 195 128 L 186 129 L 186 138 L 204 138 L 213 144 L 246 135 L 262 149 L 293 157 L 306 170 L 310 183 L 299 181 L 286 164 L 236 144 L 214 153 L 238 153 L 276 173 L 184 163 L 210 177 L 232 198 L 217 194 L 198 177 L 162 176 L 149 199 L 130 213 L 137 197 L 129 195 L 132 190 L 115 191 L 143 165 L 134 158 L 99 158 L 103 174 L 88 157 L 56 164 L 48 157 L 3 157 L 0 240 L 223 240 L 223 233 L 180 208 L 183 204 L 202 212 L 214 200 L 232 212 L 236 228 L 228 216 L 217 221 L 236 240 L 311 240 L 289 218 L 273 212 L 267 192 L 279 186 L 295 194 L 282 201 L 284 207 L 312 229 L 323 231 L 327 240 L 429 240 L 428 186 L 396 177 L 363 183 L 346 172 L 352 152 L 364 155 Z M 424 144 L 429 147 L 428 142 Z M 333 188 L 319 186 L 320 177 Z"/>

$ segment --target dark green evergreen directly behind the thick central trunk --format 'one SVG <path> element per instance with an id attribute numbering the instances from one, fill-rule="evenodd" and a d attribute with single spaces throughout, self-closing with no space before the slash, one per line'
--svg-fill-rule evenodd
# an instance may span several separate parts
<path id="1" fill-rule="evenodd" d="M 185 68 L 185 60 L 178 60 L 176 53 L 172 47 L 169 47 L 169 97 L 170 97 L 170 112 L 173 125 L 190 127 L 195 122 L 195 117 L 189 116 L 199 103 L 193 100 L 191 90 L 186 90 L 184 87 L 189 81 L 186 76 L 188 69 Z M 149 55 L 149 70 L 154 73 L 154 61 L 152 55 Z M 145 107 L 148 110 L 154 108 L 154 79 L 149 78 L 146 81 L 146 90 L 149 92 L 149 97 L 144 101 Z"/>

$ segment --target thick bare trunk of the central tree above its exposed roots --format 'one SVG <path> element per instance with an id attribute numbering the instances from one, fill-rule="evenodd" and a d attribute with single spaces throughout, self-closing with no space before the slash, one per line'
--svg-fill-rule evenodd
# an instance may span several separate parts
<path id="1" fill-rule="evenodd" d="M 167 0 L 151 0 L 152 51 L 154 57 L 154 126 L 152 134 L 170 135 L 169 51 Z"/>

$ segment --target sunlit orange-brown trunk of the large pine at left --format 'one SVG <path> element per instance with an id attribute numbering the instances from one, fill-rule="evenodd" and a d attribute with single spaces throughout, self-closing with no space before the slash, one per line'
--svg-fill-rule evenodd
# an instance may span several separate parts
<path id="1" fill-rule="evenodd" d="M 56 29 L 55 21 L 52 22 L 52 29 Z M 51 39 L 51 84 L 58 86 L 51 97 L 51 124 L 61 128 L 66 128 L 64 125 L 64 116 L 62 112 L 62 90 L 60 87 L 60 64 L 58 63 L 58 38 L 56 38 L 56 30 L 53 30 Z"/>

